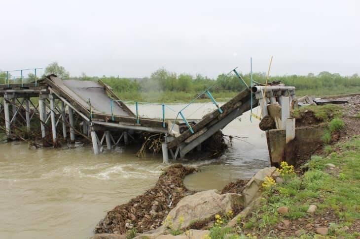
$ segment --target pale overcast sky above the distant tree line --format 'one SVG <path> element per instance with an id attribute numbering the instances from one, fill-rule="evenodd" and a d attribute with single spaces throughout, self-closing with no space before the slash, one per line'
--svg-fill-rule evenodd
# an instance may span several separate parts
<path id="1" fill-rule="evenodd" d="M 359 0 L 0 0 L 0 69 L 360 73 Z"/>

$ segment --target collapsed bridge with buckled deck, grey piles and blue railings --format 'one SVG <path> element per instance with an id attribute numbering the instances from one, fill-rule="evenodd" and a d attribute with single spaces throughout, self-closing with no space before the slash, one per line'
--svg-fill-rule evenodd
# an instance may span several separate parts
<path id="1" fill-rule="evenodd" d="M 273 94 L 275 91 L 276 95 Z M 216 110 L 202 120 L 189 122 L 181 111 L 178 112 L 180 120 L 165 119 L 164 104 L 161 104 L 163 114 L 159 120 L 140 117 L 138 102 L 135 102 L 136 112 L 132 112 L 101 80 L 61 80 L 56 75 L 49 75 L 35 83 L 0 85 L 0 96 L 3 96 L 0 113 L 4 115 L 8 138 L 14 137 L 17 121 L 23 121 L 27 130 L 34 130 L 31 121 L 37 119 L 42 139 L 49 138 L 55 145 L 60 138 L 73 143 L 75 134 L 81 135 L 92 142 L 95 154 L 102 151 L 103 145 L 108 149 L 120 141 L 127 145 L 129 137 L 133 138 L 135 132 L 162 133 L 165 135 L 163 159 L 167 163 L 168 152 L 174 160 L 184 157 L 259 102 L 265 116 L 268 103 L 278 101 L 281 104 L 294 96 L 294 88 L 288 87 L 277 87 L 268 95 L 266 92 L 261 87 L 246 88 L 219 106 L 210 91 L 206 90 L 203 93 L 210 97 Z M 58 135 L 58 127 L 62 127 L 61 136 Z M 181 130 L 183 128 L 185 130 Z"/>

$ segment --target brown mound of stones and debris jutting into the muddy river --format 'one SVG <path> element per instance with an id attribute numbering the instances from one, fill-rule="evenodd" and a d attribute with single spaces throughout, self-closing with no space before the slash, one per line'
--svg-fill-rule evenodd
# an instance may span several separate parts
<path id="1" fill-rule="evenodd" d="M 181 164 L 169 166 L 159 177 L 155 187 L 108 211 L 94 232 L 125 234 L 134 227 L 142 233 L 158 228 L 180 199 L 193 194 L 185 188 L 182 179 L 194 171 L 195 168 Z"/>

